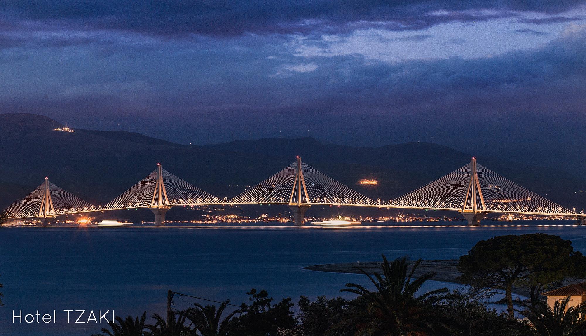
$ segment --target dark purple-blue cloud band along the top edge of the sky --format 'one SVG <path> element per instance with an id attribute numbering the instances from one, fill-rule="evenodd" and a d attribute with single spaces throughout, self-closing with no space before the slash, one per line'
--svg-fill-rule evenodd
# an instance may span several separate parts
<path id="1" fill-rule="evenodd" d="M 515 11 L 560 13 L 583 4 L 584 0 L 5 0 L 0 2 L 0 13 L 8 22 L 38 22 L 62 28 L 121 29 L 157 35 L 236 36 L 246 32 L 343 33 L 361 28 L 421 30 L 445 22 L 519 18 Z M 483 9 L 491 12 L 482 13 Z"/>

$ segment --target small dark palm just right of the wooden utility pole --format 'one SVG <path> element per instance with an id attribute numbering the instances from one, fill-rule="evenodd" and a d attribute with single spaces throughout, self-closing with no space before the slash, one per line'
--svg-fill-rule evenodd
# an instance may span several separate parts
<path id="1" fill-rule="evenodd" d="M 232 318 L 240 313 L 240 310 L 235 310 L 222 320 L 222 314 L 229 303 L 230 300 L 226 300 L 217 309 L 215 304 L 203 307 L 195 303 L 195 308 L 188 309 L 189 319 L 202 336 L 226 336 L 233 327 Z"/>

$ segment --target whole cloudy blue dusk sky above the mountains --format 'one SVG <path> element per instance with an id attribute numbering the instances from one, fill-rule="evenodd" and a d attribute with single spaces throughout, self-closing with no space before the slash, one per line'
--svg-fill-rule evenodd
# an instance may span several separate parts
<path id="1" fill-rule="evenodd" d="M 585 157 L 586 0 L 4 0 L 0 112 Z"/>

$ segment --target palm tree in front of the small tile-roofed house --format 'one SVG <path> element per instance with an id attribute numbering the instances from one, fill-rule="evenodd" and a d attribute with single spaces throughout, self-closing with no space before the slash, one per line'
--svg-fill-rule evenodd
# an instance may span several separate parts
<path id="1" fill-rule="evenodd" d="M 586 303 L 580 306 L 568 307 L 570 297 L 558 300 L 553 307 L 543 301 L 537 301 L 534 306 L 522 303 L 525 308 L 519 311 L 527 317 L 532 330 L 522 331 L 521 335 L 543 336 L 584 336 L 586 335 Z"/>

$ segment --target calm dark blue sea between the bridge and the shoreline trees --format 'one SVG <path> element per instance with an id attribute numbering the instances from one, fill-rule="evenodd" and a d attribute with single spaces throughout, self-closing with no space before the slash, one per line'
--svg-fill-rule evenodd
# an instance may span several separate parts
<path id="1" fill-rule="evenodd" d="M 455 223 L 464 222 L 418 224 Z M 164 313 L 168 289 L 237 304 L 248 300 L 246 292 L 253 287 L 268 290 L 275 300 L 338 296 L 347 282 L 366 284 L 364 277 L 301 268 L 380 260 L 381 253 L 390 259 L 455 259 L 477 241 L 498 235 L 560 235 L 586 253 L 586 227 L 571 222 L 483 224 L 510 226 L 0 228 L 0 292 L 5 296 L 0 334 L 90 335 L 101 326 L 65 324 L 63 310 L 115 310 L 120 316 L 144 310 Z M 175 304 L 188 307 L 180 299 Z M 12 310 L 56 310 L 57 323 L 13 324 Z M 87 314 L 81 320 L 87 321 Z"/>

